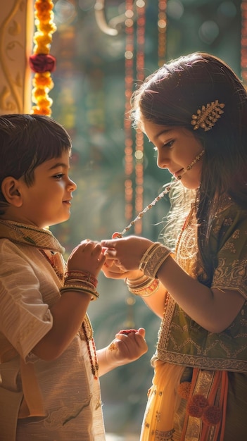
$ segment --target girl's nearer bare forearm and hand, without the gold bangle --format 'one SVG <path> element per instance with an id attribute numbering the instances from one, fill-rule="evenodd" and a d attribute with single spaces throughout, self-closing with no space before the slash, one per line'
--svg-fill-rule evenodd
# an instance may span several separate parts
<path id="1" fill-rule="evenodd" d="M 101 242 L 106 259 L 115 259 L 122 271 L 137 271 L 141 257 L 153 242 L 143 237 L 129 236 L 118 240 L 104 240 Z M 203 328 L 213 333 L 220 333 L 226 329 L 239 313 L 243 306 L 243 296 L 234 290 L 210 290 L 198 282 L 168 256 L 160 266 L 157 277 L 175 302 Z M 165 291 L 159 291 L 164 302 Z M 159 292 L 154 294 L 158 297 Z M 151 296 L 153 297 L 153 296 Z M 156 297 L 145 299 L 149 306 L 156 304 Z M 160 315 L 160 313 L 158 314 Z"/>

